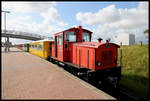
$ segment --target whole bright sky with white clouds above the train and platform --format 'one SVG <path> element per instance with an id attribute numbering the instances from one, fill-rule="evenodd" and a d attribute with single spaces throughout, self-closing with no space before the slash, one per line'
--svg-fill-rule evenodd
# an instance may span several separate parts
<path id="1" fill-rule="evenodd" d="M 134 2 L 2 2 L 2 10 L 7 14 L 7 29 L 32 32 L 43 36 L 81 25 L 93 32 L 92 41 L 97 38 L 111 38 L 120 34 L 135 34 L 136 42 L 147 42 L 143 32 L 148 29 L 149 4 L 146 1 Z M 1 18 L 4 29 L 4 14 Z M 4 38 L 2 38 L 4 41 Z M 29 40 L 10 39 L 13 44 Z"/>

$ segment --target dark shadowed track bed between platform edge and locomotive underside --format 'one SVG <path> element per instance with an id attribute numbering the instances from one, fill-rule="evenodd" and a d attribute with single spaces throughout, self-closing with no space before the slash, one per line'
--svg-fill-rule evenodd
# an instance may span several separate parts
<path id="1" fill-rule="evenodd" d="M 54 64 L 57 64 L 59 67 L 63 68 L 64 70 L 66 70 L 67 72 L 75 75 L 71 70 L 69 69 L 65 69 L 63 65 L 59 64 L 57 61 L 53 62 Z M 87 78 L 86 77 L 79 77 L 77 75 L 75 75 L 76 77 L 86 81 Z M 131 94 L 129 91 L 127 91 L 125 88 L 122 87 L 118 87 L 118 88 L 113 88 L 111 85 L 109 84 L 93 84 L 92 82 L 88 82 L 91 85 L 93 85 L 94 87 L 108 93 L 109 95 L 115 97 L 117 100 L 144 100 L 142 98 L 136 97 L 135 95 Z"/>

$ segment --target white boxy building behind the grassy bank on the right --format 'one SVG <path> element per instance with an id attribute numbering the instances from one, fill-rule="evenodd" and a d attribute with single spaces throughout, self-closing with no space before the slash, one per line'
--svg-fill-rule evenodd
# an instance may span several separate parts
<path id="1" fill-rule="evenodd" d="M 120 45 L 134 45 L 135 44 L 135 35 L 134 34 L 119 34 L 114 37 L 114 43 Z"/>

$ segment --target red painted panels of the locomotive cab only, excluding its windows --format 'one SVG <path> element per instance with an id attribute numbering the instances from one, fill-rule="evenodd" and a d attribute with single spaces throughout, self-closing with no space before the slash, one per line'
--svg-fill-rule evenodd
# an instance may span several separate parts
<path id="1" fill-rule="evenodd" d="M 70 28 L 70 29 L 67 29 L 65 31 L 55 34 L 55 54 L 56 54 L 55 58 L 57 58 L 59 61 L 62 61 L 62 62 L 72 62 L 72 43 L 73 42 L 65 41 L 65 32 L 66 31 L 76 32 L 76 42 L 82 42 L 82 32 L 89 33 L 90 39 L 91 39 L 92 32 L 88 31 L 86 29 L 82 29 L 82 27 L 79 26 L 79 27 Z M 58 45 L 57 37 L 61 34 L 63 34 L 63 44 Z M 68 49 L 66 49 L 65 44 L 68 44 Z"/>

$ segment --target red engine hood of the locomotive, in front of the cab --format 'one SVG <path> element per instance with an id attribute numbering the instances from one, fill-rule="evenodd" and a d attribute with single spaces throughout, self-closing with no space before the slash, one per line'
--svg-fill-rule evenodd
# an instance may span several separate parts
<path id="1" fill-rule="evenodd" d="M 81 66 L 92 70 L 102 70 L 117 66 L 116 64 L 117 48 L 119 48 L 119 46 L 116 44 L 81 42 L 72 45 L 73 45 L 73 64 L 76 64 L 79 67 Z M 110 45 L 110 48 L 105 48 L 106 45 Z M 96 63 L 98 62 L 101 63 L 100 66 L 96 65 Z"/>

